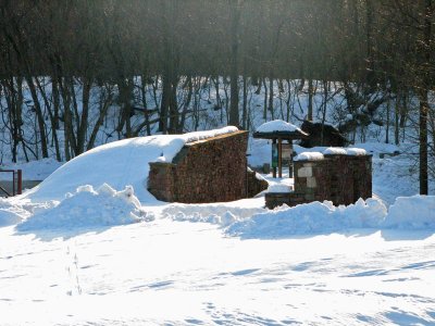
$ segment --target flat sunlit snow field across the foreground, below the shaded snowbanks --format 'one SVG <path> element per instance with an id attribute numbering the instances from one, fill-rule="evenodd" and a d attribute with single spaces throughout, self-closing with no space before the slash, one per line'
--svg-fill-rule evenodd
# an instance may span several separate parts
<path id="1" fill-rule="evenodd" d="M 435 323 L 427 233 L 239 239 L 157 218 L 0 239 L 2 325 Z"/>

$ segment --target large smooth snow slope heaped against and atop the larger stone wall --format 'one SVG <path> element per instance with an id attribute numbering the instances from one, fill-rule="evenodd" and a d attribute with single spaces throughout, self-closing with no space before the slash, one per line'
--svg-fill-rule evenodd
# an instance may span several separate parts
<path id="1" fill-rule="evenodd" d="M 91 149 L 62 165 L 39 186 L 23 195 L 32 200 L 62 200 L 79 186 L 99 188 L 108 184 L 115 190 L 133 186 L 141 202 L 158 201 L 147 191 L 150 162 L 172 162 L 179 150 L 191 141 L 234 133 L 236 127 L 185 135 L 157 135 L 119 140 Z"/>

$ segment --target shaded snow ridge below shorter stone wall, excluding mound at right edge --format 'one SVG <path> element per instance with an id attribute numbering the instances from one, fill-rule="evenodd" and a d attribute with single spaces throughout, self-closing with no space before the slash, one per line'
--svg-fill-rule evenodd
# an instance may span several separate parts
<path id="1" fill-rule="evenodd" d="M 294 208 L 282 206 L 236 222 L 227 234 L 244 238 L 279 238 L 291 235 L 334 233 L 350 228 L 380 227 L 387 213 L 376 199 L 360 199 L 348 206 L 316 201 Z"/>

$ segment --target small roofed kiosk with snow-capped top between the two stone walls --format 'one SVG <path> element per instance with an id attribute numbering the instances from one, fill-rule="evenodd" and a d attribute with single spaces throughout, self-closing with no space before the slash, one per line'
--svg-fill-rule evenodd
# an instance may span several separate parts
<path id="1" fill-rule="evenodd" d="M 274 120 L 262 124 L 252 136 L 253 138 L 272 139 L 272 168 L 274 178 L 276 178 L 276 168 L 278 177 L 283 177 L 283 159 L 289 162 L 289 171 L 291 171 L 293 140 L 309 137 L 307 133 L 297 126 L 282 120 Z M 283 141 L 287 141 L 287 143 Z"/>

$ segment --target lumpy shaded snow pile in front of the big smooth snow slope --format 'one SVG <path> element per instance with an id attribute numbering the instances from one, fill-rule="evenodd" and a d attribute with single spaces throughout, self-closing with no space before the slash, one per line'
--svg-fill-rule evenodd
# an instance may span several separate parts
<path id="1" fill-rule="evenodd" d="M 152 218 L 152 216 L 151 216 Z M 151 220 L 140 208 L 130 186 L 116 191 L 107 184 L 98 189 L 78 187 L 59 205 L 34 214 L 16 226 L 17 230 L 70 229 L 130 224 Z"/>

